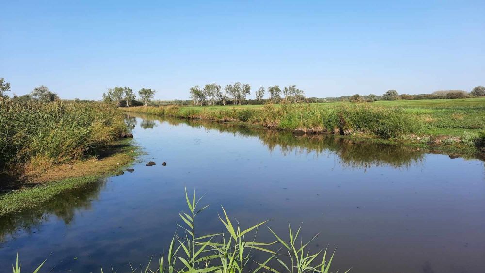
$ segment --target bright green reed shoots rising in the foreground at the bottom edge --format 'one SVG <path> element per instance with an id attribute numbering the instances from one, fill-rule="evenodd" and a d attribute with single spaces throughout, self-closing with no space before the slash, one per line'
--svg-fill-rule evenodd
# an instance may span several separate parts
<path id="1" fill-rule="evenodd" d="M 257 230 L 267 223 L 261 222 L 243 229 L 240 223 L 233 223 L 222 207 L 219 220 L 224 225 L 223 232 L 198 236 L 196 217 L 209 205 L 199 209 L 201 199 L 195 198 L 185 191 L 187 212 L 180 212 L 180 228 L 173 236 L 167 255 L 162 255 L 155 266 L 152 259 L 144 268 L 133 268 L 132 273 L 242 273 L 242 272 L 274 272 L 274 273 L 329 273 L 334 254 L 327 256 L 323 249 L 312 253 L 308 245 L 317 236 L 307 242 L 301 239 L 300 231 L 289 226 L 288 240 L 283 240 L 271 228 L 275 236 L 271 242 L 258 242 Z M 197 201 L 196 201 L 197 200 Z M 255 257 L 264 257 L 255 260 Z M 35 269 L 38 272 L 45 261 Z M 20 273 L 18 253 L 14 273 Z M 114 272 L 114 271 L 113 271 Z M 337 271 L 338 272 L 338 271 Z M 347 270 L 345 273 L 349 272 Z M 101 273 L 103 269 L 101 268 Z"/>

